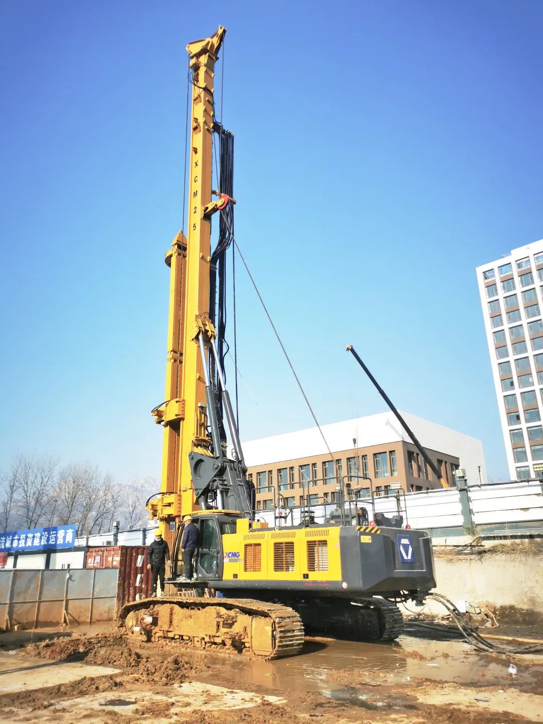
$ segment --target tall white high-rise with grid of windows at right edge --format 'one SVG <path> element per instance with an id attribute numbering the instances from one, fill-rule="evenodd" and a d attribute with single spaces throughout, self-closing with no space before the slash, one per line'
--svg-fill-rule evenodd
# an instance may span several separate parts
<path id="1" fill-rule="evenodd" d="M 476 271 L 510 476 L 543 477 L 543 239 Z"/>

